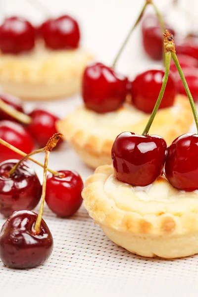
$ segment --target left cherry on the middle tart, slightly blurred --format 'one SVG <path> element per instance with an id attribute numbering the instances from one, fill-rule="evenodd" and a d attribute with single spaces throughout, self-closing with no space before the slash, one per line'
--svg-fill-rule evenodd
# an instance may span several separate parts
<path id="1" fill-rule="evenodd" d="M 114 111 L 126 99 L 127 77 L 112 68 L 95 62 L 84 71 L 82 96 L 85 106 L 98 113 Z"/>

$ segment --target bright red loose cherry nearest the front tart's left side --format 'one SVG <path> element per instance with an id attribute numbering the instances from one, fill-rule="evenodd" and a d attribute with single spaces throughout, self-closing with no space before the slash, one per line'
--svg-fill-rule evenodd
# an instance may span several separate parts
<path id="1" fill-rule="evenodd" d="M 46 203 L 60 217 L 72 216 L 82 204 L 83 181 L 76 171 L 60 170 L 63 176 L 49 175 Z"/>

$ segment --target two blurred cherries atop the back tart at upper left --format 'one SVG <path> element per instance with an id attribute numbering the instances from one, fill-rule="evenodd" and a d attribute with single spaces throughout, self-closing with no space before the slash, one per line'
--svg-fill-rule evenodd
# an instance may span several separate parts
<path id="1" fill-rule="evenodd" d="M 24 17 L 4 19 L 0 26 L 0 50 L 2 53 L 18 54 L 35 47 L 36 39 L 42 39 L 49 49 L 76 49 L 80 41 L 77 21 L 69 15 L 50 18 L 34 27 Z"/>

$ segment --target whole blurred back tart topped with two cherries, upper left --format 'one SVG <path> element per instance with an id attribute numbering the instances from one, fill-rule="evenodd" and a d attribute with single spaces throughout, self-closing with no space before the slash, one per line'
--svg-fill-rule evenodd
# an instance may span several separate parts
<path id="1" fill-rule="evenodd" d="M 17 32 L 18 27 L 24 32 Z M 25 100 L 56 99 L 78 92 L 92 55 L 79 46 L 77 22 L 64 15 L 49 19 L 38 34 L 35 32 L 26 19 L 19 17 L 7 18 L 0 26 L 3 91 Z"/>

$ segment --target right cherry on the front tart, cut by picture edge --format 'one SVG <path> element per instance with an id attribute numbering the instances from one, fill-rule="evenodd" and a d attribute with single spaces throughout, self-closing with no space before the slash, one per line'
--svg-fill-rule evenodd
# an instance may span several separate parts
<path id="1" fill-rule="evenodd" d="M 169 183 L 179 190 L 198 190 L 197 134 L 181 135 L 168 147 L 165 175 Z"/>

